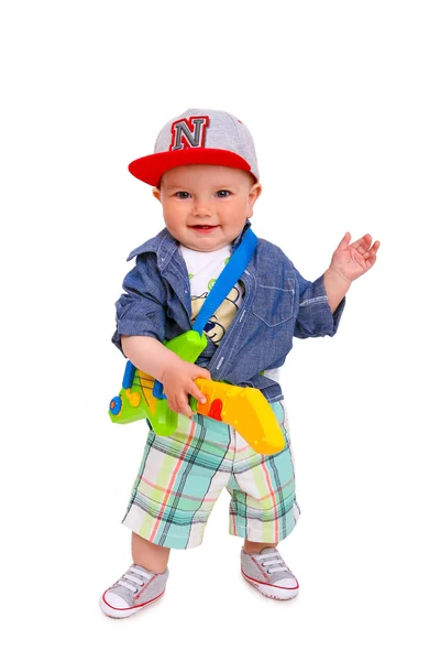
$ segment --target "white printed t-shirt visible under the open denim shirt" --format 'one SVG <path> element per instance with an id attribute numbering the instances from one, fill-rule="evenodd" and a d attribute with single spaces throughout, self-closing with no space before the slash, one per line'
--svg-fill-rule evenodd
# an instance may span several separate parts
<path id="1" fill-rule="evenodd" d="M 188 269 L 191 288 L 191 322 L 194 322 L 216 280 L 224 269 L 224 264 L 231 257 L 231 245 L 211 252 L 199 252 L 182 245 L 178 249 Z M 216 345 L 220 344 L 224 333 L 231 325 L 237 311 L 243 303 L 243 296 L 244 288 L 239 281 L 205 326 L 205 334 Z"/>

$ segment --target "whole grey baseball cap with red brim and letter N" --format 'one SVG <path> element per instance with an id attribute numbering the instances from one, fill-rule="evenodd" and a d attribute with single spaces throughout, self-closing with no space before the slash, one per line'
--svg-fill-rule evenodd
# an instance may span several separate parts
<path id="1" fill-rule="evenodd" d="M 260 178 L 254 142 L 244 123 L 229 112 L 200 108 L 189 108 L 168 121 L 157 136 L 154 154 L 136 159 L 129 171 L 158 186 L 164 172 L 191 164 L 237 167 Z"/>

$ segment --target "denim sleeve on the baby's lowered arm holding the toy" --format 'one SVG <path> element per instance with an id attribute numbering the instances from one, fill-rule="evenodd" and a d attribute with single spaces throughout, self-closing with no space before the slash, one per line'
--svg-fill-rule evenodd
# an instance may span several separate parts
<path id="1" fill-rule="evenodd" d="M 117 329 L 112 343 L 122 351 L 121 335 L 165 338 L 166 290 L 152 253 L 136 258 L 124 278 L 124 294 L 117 301 Z M 123 351 L 122 351 L 123 353 Z"/>

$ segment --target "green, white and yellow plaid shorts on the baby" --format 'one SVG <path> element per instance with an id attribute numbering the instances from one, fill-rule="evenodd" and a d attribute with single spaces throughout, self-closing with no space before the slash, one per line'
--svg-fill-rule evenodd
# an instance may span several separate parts
<path id="1" fill-rule="evenodd" d="M 252 542 L 278 542 L 299 517 L 286 410 L 271 404 L 286 445 L 257 454 L 233 427 L 204 415 L 179 415 L 173 436 L 150 432 L 123 523 L 169 549 L 201 544 L 208 517 L 226 487 L 229 532 Z"/>

